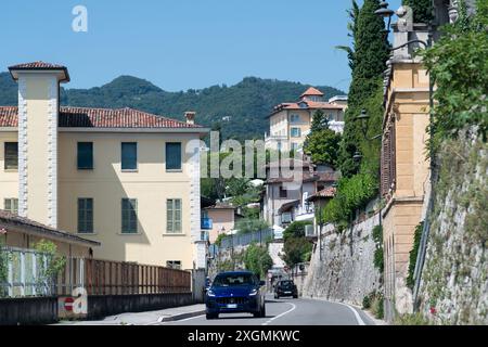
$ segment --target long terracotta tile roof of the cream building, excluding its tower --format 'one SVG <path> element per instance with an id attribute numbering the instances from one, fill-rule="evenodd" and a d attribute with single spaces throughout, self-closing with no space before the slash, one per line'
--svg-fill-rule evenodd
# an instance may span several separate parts
<path id="1" fill-rule="evenodd" d="M 17 127 L 17 107 L 0 106 L 0 127 Z M 202 128 L 132 108 L 61 107 L 61 128 Z"/>

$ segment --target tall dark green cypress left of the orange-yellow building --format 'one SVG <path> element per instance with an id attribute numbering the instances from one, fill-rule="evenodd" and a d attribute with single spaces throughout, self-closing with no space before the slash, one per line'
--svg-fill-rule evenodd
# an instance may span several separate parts
<path id="1" fill-rule="evenodd" d="M 349 12 L 349 30 L 354 46 L 346 50 L 349 53 L 349 65 L 352 67 L 352 81 L 339 159 L 339 167 L 345 177 L 351 177 L 359 171 L 359 164 L 355 163 L 352 157 L 360 151 L 363 132 L 361 125 L 355 119 L 375 95 L 390 53 L 385 37 L 385 23 L 374 13 L 378 8 L 380 0 L 364 0 L 361 9 L 352 1 L 352 10 Z"/>

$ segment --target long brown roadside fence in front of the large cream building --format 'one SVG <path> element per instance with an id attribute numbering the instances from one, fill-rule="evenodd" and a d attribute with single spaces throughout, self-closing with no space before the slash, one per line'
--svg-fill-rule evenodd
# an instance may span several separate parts
<path id="1" fill-rule="evenodd" d="M 0 297 L 191 293 L 189 271 L 133 262 L 68 257 L 52 274 L 52 256 L 34 249 L 0 248 Z"/>

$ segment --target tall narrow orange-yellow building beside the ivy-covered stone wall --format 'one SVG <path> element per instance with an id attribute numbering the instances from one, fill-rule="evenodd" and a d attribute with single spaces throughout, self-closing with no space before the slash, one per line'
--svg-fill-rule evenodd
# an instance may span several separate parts
<path id="1" fill-rule="evenodd" d="M 409 33 L 395 28 L 395 47 Z M 416 37 L 426 39 L 425 25 Z M 412 35 L 412 33 L 410 33 Z M 382 195 L 385 249 L 385 312 L 412 312 L 412 291 L 407 286 L 415 228 L 425 218 L 429 194 L 426 132 L 429 124 L 429 77 L 414 48 L 397 50 L 389 62 L 383 121 Z"/>

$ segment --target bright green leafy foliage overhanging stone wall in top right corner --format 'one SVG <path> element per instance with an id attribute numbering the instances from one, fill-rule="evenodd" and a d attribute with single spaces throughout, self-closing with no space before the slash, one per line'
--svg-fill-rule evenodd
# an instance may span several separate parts
<path id="1" fill-rule="evenodd" d="M 434 150 L 445 139 L 455 138 L 466 126 L 477 126 L 486 140 L 488 131 L 488 0 L 477 1 L 473 17 L 461 5 L 460 18 L 444 28 L 436 44 L 422 52 L 435 85 Z"/>

